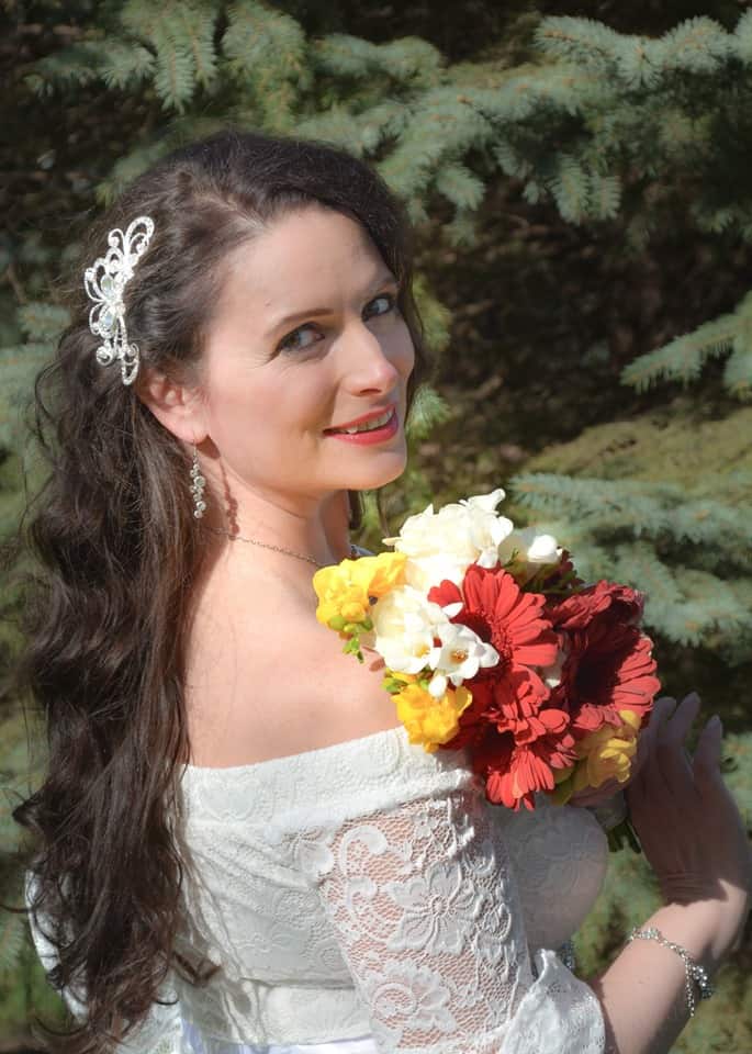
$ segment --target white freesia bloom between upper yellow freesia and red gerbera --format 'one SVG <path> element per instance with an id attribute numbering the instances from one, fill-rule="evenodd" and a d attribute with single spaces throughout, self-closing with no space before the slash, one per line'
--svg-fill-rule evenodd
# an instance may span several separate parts
<path id="1" fill-rule="evenodd" d="M 371 608 L 374 647 L 397 673 L 419 673 L 430 664 L 438 648 L 434 639 L 448 621 L 438 604 L 409 585 L 380 597 Z"/>

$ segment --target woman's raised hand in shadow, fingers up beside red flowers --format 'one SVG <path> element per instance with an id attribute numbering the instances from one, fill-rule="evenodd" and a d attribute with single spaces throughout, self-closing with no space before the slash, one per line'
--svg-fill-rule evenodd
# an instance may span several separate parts
<path id="1" fill-rule="evenodd" d="M 627 790 L 630 820 L 666 904 L 712 901 L 712 953 L 739 945 L 752 896 L 752 853 L 720 773 L 721 726 L 708 721 L 694 758 L 685 739 L 699 711 L 692 693 L 678 706 L 658 699 L 643 731 L 644 763 Z"/>

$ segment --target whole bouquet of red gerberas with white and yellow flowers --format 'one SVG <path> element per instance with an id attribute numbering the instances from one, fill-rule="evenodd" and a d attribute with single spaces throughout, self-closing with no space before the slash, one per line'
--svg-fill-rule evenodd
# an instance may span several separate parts
<path id="1" fill-rule="evenodd" d="M 393 551 L 323 568 L 317 619 L 383 658 L 409 741 L 467 748 L 490 801 L 535 808 L 626 783 L 660 688 L 643 594 L 586 585 L 570 553 L 490 494 L 411 516 Z"/>

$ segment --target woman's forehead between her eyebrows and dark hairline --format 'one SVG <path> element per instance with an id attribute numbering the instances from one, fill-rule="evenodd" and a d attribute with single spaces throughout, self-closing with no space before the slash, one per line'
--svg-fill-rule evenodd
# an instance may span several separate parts
<path id="1" fill-rule="evenodd" d="M 366 228 L 334 210 L 312 205 L 288 213 L 231 256 L 225 303 L 252 301 L 269 315 L 321 305 L 360 289 L 384 270 Z"/>

